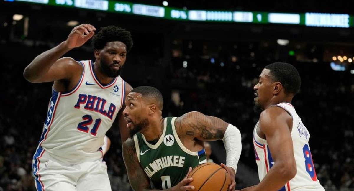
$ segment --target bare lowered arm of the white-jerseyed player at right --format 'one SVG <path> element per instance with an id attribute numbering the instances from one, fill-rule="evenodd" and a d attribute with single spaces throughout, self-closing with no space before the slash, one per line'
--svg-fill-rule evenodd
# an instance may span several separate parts
<path id="1" fill-rule="evenodd" d="M 292 117 L 284 109 L 273 106 L 261 113 L 258 126 L 267 138 L 274 165 L 258 185 L 242 191 L 279 190 L 297 172 L 289 129 Z"/>

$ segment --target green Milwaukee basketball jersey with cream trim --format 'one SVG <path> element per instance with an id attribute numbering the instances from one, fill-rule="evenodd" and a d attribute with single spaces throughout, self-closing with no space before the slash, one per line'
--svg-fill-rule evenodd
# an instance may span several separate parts
<path id="1" fill-rule="evenodd" d="M 206 162 L 205 150 L 190 151 L 179 140 L 175 129 L 176 117 L 164 119 L 164 131 L 155 145 L 149 144 L 142 133 L 134 135 L 136 154 L 141 167 L 149 176 L 152 188 L 167 189 L 177 185 L 194 168 Z"/>

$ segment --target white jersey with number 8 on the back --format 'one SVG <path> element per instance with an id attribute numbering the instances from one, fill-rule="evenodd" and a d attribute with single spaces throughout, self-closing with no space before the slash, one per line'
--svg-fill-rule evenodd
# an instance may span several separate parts
<path id="1" fill-rule="evenodd" d="M 293 118 L 291 138 L 296 161 L 297 173 L 284 187 L 279 191 L 324 191 L 317 179 L 312 156 L 310 152 L 309 139 L 310 133 L 302 124 L 294 107 L 289 103 L 280 103 L 276 105 L 287 111 Z M 256 163 L 258 166 L 259 180 L 262 181 L 269 169 L 274 165 L 274 161 L 269 150 L 267 140 L 258 136 L 256 129 L 257 122 L 253 131 L 253 146 L 255 149 Z"/>

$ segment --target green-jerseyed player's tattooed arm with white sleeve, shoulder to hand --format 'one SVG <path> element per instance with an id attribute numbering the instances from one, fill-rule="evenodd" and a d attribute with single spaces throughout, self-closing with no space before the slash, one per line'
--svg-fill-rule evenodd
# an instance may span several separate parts
<path id="1" fill-rule="evenodd" d="M 213 116 L 206 116 L 200 112 L 188 112 L 175 121 L 179 136 L 198 139 L 201 141 L 224 141 L 226 150 L 226 166 L 221 164 L 227 172 L 235 177 L 237 164 L 241 155 L 241 133 L 235 126 Z M 229 189 L 235 189 L 235 178 Z"/>

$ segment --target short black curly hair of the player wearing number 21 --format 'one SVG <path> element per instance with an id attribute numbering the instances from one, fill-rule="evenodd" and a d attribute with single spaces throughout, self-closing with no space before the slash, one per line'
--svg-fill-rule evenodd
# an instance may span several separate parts
<path id="1" fill-rule="evenodd" d="M 95 50 L 103 49 L 107 42 L 120 41 L 127 47 L 127 52 L 133 47 L 133 39 L 129 31 L 116 26 L 102 27 L 92 38 Z"/>

